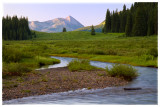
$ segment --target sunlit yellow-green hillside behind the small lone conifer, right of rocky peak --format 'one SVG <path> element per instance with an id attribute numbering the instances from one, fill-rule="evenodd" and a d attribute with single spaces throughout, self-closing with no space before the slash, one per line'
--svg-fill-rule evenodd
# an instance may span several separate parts
<path id="1" fill-rule="evenodd" d="M 94 26 L 95 32 L 102 32 L 102 28 L 104 27 L 105 21 L 100 23 L 99 25 Z M 92 26 L 86 26 L 82 28 L 78 28 L 75 31 L 91 31 Z"/>

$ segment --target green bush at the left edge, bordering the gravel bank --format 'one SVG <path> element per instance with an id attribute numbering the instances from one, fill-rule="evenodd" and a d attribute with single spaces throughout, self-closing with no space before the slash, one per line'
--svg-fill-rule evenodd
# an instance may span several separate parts
<path id="1" fill-rule="evenodd" d="M 7 76 L 20 76 L 30 71 L 31 69 L 20 63 L 3 63 L 3 78 Z"/>

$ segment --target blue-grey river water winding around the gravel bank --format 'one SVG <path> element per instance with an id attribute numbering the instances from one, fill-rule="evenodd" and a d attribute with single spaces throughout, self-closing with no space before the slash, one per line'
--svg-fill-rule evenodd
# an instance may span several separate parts
<path id="1" fill-rule="evenodd" d="M 53 57 L 61 60 L 60 64 L 50 65 L 48 68 L 65 67 L 73 58 Z M 91 61 L 91 65 L 105 68 L 113 63 Z M 87 90 L 85 88 L 30 96 L 9 101 L 3 104 L 157 104 L 157 68 L 135 67 L 139 76 L 123 87 L 108 87 L 104 89 Z M 41 68 L 45 69 L 45 68 Z M 141 87 L 142 90 L 123 90 L 124 87 Z"/>

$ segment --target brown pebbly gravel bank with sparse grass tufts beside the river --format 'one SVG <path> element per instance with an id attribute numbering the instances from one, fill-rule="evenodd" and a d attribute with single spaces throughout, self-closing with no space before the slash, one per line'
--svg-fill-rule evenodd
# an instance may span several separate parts
<path id="1" fill-rule="evenodd" d="M 128 82 L 109 77 L 105 71 L 70 72 L 67 67 L 34 71 L 27 76 L 3 79 L 3 100 L 76 89 L 96 89 L 126 85 Z"/>

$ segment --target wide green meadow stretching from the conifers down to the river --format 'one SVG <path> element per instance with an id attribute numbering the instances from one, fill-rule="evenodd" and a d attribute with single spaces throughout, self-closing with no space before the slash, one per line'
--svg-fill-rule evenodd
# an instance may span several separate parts
<path id="1" fill-rule="evenodd" d="M 36 34 L 37 38 L 32 40 L 3 41 L 3 65 L 7 61 L 16 62 L 33 69 L 39 67 L 37 64 L 58 63 L 47 58 L 53 55 L 158 66 L 157 35 L 125 37 L 124 33 L 96 33 L 92 36 L 90 32 L 83 31 Z"/>

